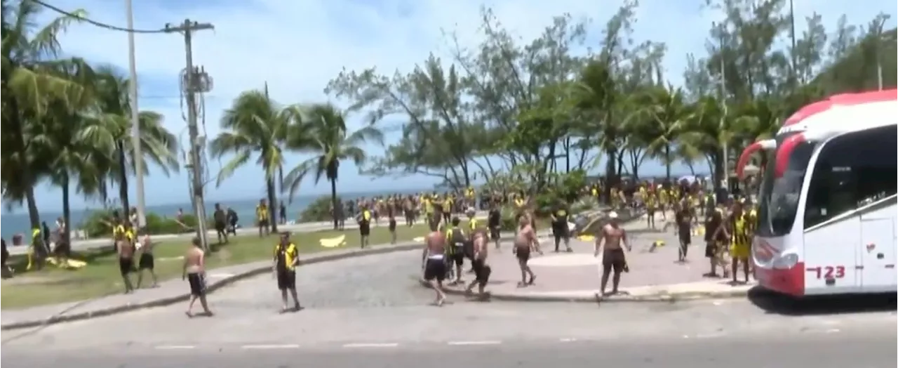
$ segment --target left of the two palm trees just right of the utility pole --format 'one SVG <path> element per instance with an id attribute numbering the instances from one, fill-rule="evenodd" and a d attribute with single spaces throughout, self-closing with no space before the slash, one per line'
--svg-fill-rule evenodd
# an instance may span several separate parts
<path id="1" fill-rule="evenodd" d="M 221 119 L 224 131 L 209 142 L 209 152 L 213 157 L 234 156 L 218 172 L 220 185 L 233 172 L 250 162 L 256 154 L 256 163 L 265 173 L 265 189 L 269 198 L 269 219 L 276 219 L 277 188 L 275 178 L 279 167 L 284 165 L 283 145 L 287 136 L 287 126 L 291 121 L 301 121 L 297 106 L 280 108 L 277 103 L 260 90 L 246 91 L 237 96 L 231 108 Z M 271 230 L 277 232 L 277 221 L 269 221 Z"/>

